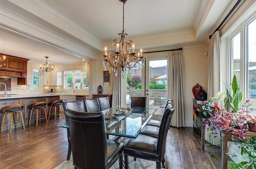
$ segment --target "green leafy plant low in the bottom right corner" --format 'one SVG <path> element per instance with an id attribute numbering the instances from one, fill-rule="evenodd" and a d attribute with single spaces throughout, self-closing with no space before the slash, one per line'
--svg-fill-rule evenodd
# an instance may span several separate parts
<path id="1" fill-rule="evenodd" d="M 245 140 L 245 142 L 236 142 L 236 145 L 238 145 L 241 148 L 241 153 L 227 153 L 228 156 L 236 157 L 238 160 L 238 163 L 231 162 L 228 169 L 237 169 L 237 168 L 243 168 L 243 169 L 253 169 L 256 168 L 256 142 L 255 138 L 251 137 L 250 140 Z M 238 159 L 240 157 L 242 161 Z"/>

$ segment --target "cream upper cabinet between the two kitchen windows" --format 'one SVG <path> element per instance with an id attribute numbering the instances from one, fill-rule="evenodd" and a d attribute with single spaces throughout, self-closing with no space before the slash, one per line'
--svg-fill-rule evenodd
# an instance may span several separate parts
<path id="1" fill-rule="evenodd" d="M 62 72 L 57 71 L 57 66 L 54 66 L 51 72 L 44 72 L 42 76 L 44 86 L 62 86 Z"/>

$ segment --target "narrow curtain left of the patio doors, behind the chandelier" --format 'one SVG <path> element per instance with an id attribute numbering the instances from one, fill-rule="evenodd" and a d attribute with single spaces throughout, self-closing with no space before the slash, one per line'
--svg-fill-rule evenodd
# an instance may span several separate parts
<path id="1" fill-rule="evenodd" d="M 121 105 L 122 103 L 122 72 L 121 69 L 117 69 L 117 76 L 115 72 L 112 73 L 113 82 L 113 96 L 112 96 L 112 107 Z"/>

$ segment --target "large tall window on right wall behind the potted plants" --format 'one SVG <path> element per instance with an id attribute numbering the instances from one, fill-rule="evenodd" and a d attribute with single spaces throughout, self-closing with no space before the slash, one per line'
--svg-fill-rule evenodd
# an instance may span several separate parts
<path id="1" fill-rule="evenodd" d="M 241 51 L 241 52 L 240 52 Z M 256 16 L 239 26 L 229 38 L 230 77 L 238 77 L 245 99 L 253 105 L 248 108 L 256 116 Z"/>

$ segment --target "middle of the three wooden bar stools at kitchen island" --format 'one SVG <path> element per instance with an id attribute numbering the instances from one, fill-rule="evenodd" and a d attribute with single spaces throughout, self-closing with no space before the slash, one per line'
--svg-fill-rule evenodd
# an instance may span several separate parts
<path id="1" fill-rule="evenodd" d="M 48 123 L 47 120 L 47 112 L 46 112 L 46 106 L 47 106 L 47 101 L 40 101 L 40 102 L 36 102 L 30 105 L 30 118 L 29 118 L 29 125 L 31 122 L 31 118 L 32 118 L 32 114 L 33 114 L 33 110 L 36 110 L 36 116 L 35 116 L 35 120 L 36 120 L 36 125 L 38 125 L 38 120 L 41 119 L 46 119 L 46 123 Z M 44 109 L 45 112 L 45 117 L 41 116 L 41 112 L 40 112 L 40 116 L 39 116 L 39 110 Z"/>

